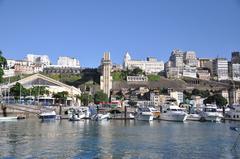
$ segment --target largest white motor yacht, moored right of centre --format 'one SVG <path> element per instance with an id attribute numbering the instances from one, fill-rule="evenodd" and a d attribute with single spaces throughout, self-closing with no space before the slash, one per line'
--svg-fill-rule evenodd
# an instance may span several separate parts
<path id="1" fill-rule="evenodd" d="M 183 122 L 187 119 L 187 113 L 174 103 L 166 104 L 160 114 L 161 120 Z"/>

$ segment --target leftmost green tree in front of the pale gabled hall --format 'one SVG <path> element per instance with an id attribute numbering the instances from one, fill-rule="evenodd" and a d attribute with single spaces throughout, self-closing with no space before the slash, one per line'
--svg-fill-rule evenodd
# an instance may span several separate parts
<path id="1" fill-rule="evenodd" d="M 28 95 L 28 90 L 21 85 L 21 83 L 17 82 L 12 88 L 10 88 L 10 94 L 14 96 L 15 99 L 20 99 L 20 94 L 23 97 Z"/>

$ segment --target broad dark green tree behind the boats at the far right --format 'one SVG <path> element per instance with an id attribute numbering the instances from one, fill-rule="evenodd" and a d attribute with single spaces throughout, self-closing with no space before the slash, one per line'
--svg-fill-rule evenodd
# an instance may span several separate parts
<path id="1" fill-rule="evenodd" d="M 214 94 L 209 96 L 203 101 L 204 104 L 213 104 L 215 103 L 219 107 L 223 107 L 227 104 L 227 99 L 225 99 L 221 94 Z"/>

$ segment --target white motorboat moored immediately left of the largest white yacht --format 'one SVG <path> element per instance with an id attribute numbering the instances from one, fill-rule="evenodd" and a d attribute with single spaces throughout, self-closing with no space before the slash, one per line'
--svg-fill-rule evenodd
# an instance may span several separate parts
<path id="1" fill-rule="evenodd" d="M 146 107 L 146 108 L 138 108 L 135 119 L 142 120 L 142 121 L 152 121 L 153 117 L 154 117 L 153 113 L 150 111 L 148 107 Z"/>

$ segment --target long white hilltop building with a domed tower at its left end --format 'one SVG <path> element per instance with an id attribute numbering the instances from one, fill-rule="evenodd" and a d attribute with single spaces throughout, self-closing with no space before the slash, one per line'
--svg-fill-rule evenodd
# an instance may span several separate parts
<path id="1" fill-rule="evenodd" d="M 148 57 L 147 60 L 132 60 L 127 52 L 124 56 L 124 69 L 140 68 L 147 74 L 158 74 L 164 70 L 163 61 L 157 61 L 156 58 Z"/>

